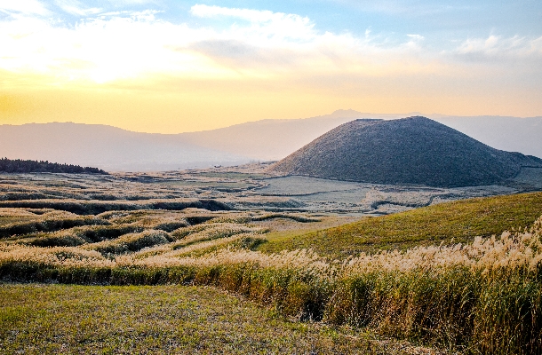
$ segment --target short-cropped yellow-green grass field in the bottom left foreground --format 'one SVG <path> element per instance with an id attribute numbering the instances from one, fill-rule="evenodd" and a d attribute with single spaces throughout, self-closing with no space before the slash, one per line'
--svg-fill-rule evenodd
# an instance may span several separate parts
<path id="1" fill-rule="evenodd" d="M 215 288 L 0 284 L 3 354 L 412 351 L 429 353 L 366 332 L 289 321 Z"/>

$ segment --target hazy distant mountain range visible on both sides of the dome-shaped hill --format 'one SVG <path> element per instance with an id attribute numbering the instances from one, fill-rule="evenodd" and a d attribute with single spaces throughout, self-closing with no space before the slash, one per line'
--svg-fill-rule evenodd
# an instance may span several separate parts
<path id="1" fill-rule="evenodd" d="M 296 120 L 261 120 L 200 132 L 150 134 L 81 123 L 0 125 L 0 157 L 103 170 L 177 170 L 275 161 L 356 118 L 400 118 L 338 110 Z M 542 157 L 542 117 L 429 115 L 498 149 Z"/>

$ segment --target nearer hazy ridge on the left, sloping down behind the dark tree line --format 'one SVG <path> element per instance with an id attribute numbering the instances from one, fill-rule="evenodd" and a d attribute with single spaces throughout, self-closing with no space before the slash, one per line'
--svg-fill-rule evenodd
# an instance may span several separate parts
<path id="1" fill-rule="evenodd" d="M 0 126 L 0 155 L 116 170 L 177 170 L 249 162 L 227 152 L 195 146 L 178 135 L 149 134 L 71 122 Z"/>

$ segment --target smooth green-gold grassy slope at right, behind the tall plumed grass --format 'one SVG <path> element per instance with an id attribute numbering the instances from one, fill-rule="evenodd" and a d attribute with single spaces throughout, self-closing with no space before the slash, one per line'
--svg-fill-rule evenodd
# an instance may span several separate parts
<path id="1" fill-rule="evenodd" d="M 328 256 L 381 249 L 472 241 L 529 227 L 542 215 L 542 193 L 453 201 L 383 217 L 364 217 L 339 227 L 309 233 L 270 233 L 260 250 L 313 248 Z"/>

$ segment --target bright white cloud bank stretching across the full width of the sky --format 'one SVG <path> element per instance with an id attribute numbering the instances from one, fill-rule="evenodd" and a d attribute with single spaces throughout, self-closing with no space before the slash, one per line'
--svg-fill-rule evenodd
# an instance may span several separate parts
<path id="1" fill-rule="evenodd" d="M 44 75 L 52 83 L 163 76 L 203 81 L 452 77 L 474 71 L 470 67 L 474 59 L 495 62 L 503 53 L 519 59 L 539 58 L 542 53 L 542 37 L 490 36 L 438 51 L 427 47 L 418 34 L 407 34 L 403 43 L 395 43 L 373 36 L 370 29 L 360 36 L 323 32 L 307 17 L 283 12 L 196 4 L 190 13 L 211 21 L 195 27 L 161 20 L 150 10 L 93 15 L 99 9 L 85 8 L 75 0 L 57 4 L 84 20 L 75 25 L 39 16 L 0 20 L 0 70 Z"/>

